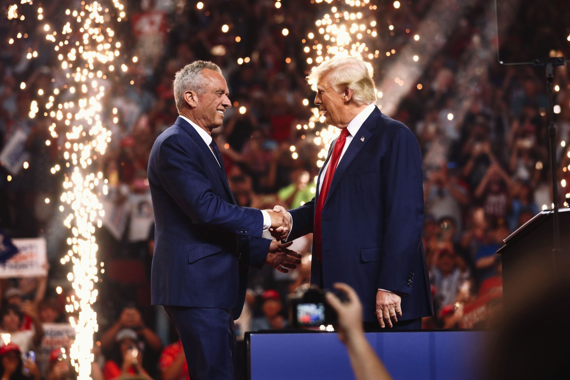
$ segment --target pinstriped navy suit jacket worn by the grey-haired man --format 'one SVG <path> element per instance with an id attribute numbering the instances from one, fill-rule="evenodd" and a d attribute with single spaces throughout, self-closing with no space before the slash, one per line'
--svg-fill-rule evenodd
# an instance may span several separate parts
<path id="1" fill-rule="evenodd" d="M 245 299 L 247 265 L 262 267 L 260 210 L 236 206 L 225 170 L 178 117 L 158 136 L 148 164 L 154 210 L 153 305 L 233 309 Z"/>

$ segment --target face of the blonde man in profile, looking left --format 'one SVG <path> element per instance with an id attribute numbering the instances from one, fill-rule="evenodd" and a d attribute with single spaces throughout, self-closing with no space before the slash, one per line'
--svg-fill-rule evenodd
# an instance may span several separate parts
<path id="1" fill-rule="evenodd" d="M 352 119 L 347 117 L 347 90 L 336 91 L 331 85 L 329 73 L 323 75 L 317 83 L 317 95 L 315 96 L 315 104 L 320 107 L 323 113 L 325 123 L 344 128 Z"/>

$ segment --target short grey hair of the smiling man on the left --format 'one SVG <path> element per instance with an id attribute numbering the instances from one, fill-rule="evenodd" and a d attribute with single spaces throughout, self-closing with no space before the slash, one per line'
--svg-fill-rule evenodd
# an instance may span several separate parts
<path id="1" fill-rule="evenodd" d="M 206 80 L 202 74 L 203 69 L 210 69 L 222 73 L 217 64 L 210 61 L 194 61 L 187 64 L 174 75 L 174 101 L 178 112 L 184 107 L 184 93 L 189 90 L 197 93 L 206 91 Z"/>

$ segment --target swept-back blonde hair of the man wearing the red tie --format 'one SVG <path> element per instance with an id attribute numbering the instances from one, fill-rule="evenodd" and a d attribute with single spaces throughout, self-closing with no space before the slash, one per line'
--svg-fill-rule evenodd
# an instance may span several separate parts
<path id="1" fill-rule="evenodd" d="M 376 85 L 372 77 L 372 66 L 367 67 L 363 60 L 351 56 L 325 60 L 311 70 L 307 81 L 311 85 L 316 85 L 328 73 L 330 73 L 331 85 L 336 91 L 342 91 L 345 88 L 352 89 L 352 99 L 356 104 L 376 102 Z"/>

